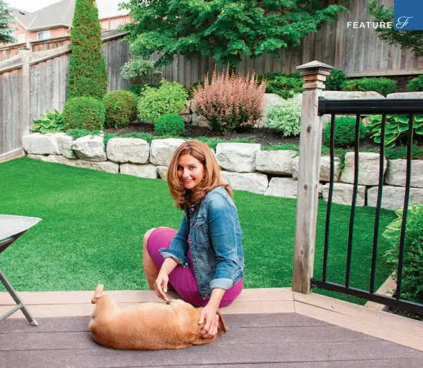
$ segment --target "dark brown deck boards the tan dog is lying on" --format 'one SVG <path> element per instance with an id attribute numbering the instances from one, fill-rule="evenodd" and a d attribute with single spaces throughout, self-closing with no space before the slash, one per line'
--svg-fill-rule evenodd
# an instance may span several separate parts
<path id="1" fill-rule="evenodd" d="M 223 315 L 229 332 L 180 350 L 118 351 L 97 345 L 89 317 L 0 323 L 0 367 L 136 368 L 421 367 L 423 353 L 297 313 Z"/>

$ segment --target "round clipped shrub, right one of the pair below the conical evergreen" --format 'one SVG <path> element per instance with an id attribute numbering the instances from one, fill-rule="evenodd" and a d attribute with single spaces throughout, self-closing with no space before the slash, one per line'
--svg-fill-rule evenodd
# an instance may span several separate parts
<path id="1" fill-rule="evenodd" d="M 106 108 L 104 126 L 122 128 L 137 117 L 137 96 L 128 90 L 113 90 L 103 97 Z"/>

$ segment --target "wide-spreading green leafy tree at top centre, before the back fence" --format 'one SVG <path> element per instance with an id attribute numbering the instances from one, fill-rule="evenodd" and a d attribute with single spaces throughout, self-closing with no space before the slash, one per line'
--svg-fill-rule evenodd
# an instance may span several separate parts
<path id="1" fill-rule="evenodd" d="M 344 6 L 323 7 L 318 0 L 130 0 L 133 23 L 125 26 L 135 54 L 162 52 L 158 65 L 174 54 L 212 55 L 218 64 L 235 66 L 242 55 L 259 57 L 298 46 Z"/>

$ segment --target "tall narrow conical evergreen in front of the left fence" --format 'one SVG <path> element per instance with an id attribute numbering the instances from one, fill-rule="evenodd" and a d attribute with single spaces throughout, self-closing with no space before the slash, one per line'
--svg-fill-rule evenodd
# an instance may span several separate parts
<path id="1" fill-rule="evenodd" d="M 72 27 L 68 99 L 82 96 L 102 99 L 108 80 L 95 0 L 76 0 Z"/>

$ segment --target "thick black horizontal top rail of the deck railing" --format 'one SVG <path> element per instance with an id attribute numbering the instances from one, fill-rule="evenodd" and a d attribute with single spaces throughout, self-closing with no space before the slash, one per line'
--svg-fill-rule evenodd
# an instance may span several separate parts
<path id="1" fill-rule="evenodd" d="M 319 97 L 319 115 L 423 114 L 423 99 L 326 99 Z"/>

